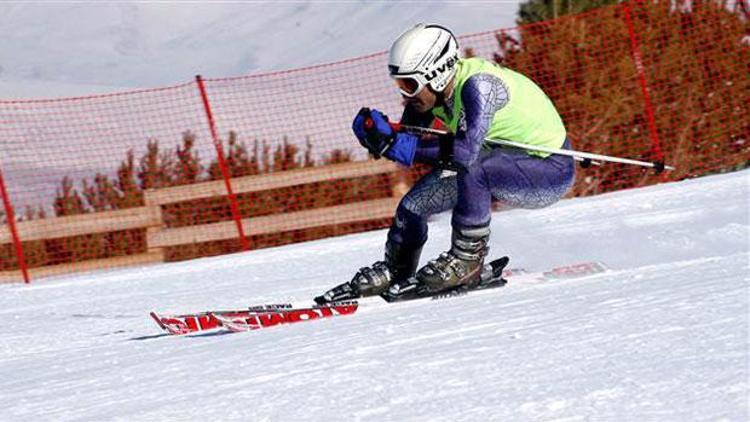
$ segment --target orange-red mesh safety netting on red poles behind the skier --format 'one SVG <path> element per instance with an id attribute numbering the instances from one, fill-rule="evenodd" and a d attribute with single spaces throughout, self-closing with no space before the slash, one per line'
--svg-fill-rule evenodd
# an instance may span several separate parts
<path id="1" fill-rule="evenodd" d="M 570 196 L 750 163 L 742 2 L 631 1 L 459 37 L 549 94 L 580 151 Z M 0 100 L 0 282 L 176 261 L 387 227 L 424 169 L 370 161 L 361 106 L 401 112 L 386 53 L 171 87 Z"/>

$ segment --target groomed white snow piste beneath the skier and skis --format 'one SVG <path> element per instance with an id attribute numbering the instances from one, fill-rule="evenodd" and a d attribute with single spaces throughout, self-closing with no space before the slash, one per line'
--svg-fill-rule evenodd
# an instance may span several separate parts
<path id="1" fill-rule="evenodd" d="M 262 332 L 158 337 L 148 312 L 304 300 L 385 232 L 0 286 L 0 420 L 746 421 L 749 191 L 744 171 L 497 213 L 514 266 L 612 271 Z"/>

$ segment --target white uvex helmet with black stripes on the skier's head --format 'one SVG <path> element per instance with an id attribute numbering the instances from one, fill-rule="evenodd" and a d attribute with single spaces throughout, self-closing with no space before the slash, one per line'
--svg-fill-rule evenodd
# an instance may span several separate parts
<path id="1" fill-rule="evenodd" d="M 457 62 L 458 41 L 453 33 L 420 23 L 393 42 L 388 70 L 401 94 L 413 97 L 426 85 L 442 92 L 456 74 Z"/>

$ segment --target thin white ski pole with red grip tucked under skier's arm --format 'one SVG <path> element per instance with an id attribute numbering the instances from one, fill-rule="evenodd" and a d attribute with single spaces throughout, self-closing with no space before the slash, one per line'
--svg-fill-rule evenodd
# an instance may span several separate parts
<path id="1" fill-rule="evenodd" d="M 400 123 L 391 123 L 391 127 L 393 128 L 393 130 L 397 132 L 403 131 L 403 132 L 411 132 L 411 133 L 417 133 L 417 134 L 429 134 L 429 135 L 437 135 L 437 136 L 449 135 L 447 131 L 440 130 L 440 129 L 402 125 Z M 663 172 L 664 170 L 675 169 L 672 166 L 665 165 L 663 161 L 652 161 L 652 162 L 640 161 L 640 160 L 633 160 L 630 158 L 620 158 L 620 157 L 612 157 L 609 155 L 592 154 L 590 152 L 557 149 L 557 148 L 547 148 L 547 147 L 536 146 L 536 145 L 527 145 L 527 144 L 522 144 L 519 142 L 508 141 L 505 139 L 486 138 L 485 141 L 495 144 L 495 145 L 509 146 L 513 148 L 521 148 L 521 149 L 525 149 L 529 151 L 538 151 L 538 152 L 545 152 L 548 154 L 566 155 L 566 156 L 573 157 L 573 158 L 583 161 L 584 166 L 589 165 L 589 164 L 595 164 L 594 160 L 600 160 L 600 161 L 607 161 L 611 163 L 630 164 L 630 165 L 641 166 L 641 167 L 649 167 L 649 168 L 653 168 L 654 170 L 656 170 L 657 174 Z"/>

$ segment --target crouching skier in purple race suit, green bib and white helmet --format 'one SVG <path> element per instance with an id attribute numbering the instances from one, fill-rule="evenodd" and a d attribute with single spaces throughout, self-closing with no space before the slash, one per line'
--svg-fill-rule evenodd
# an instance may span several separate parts
<path id="1" fill-rule="evenodd" d="M 488 253 L 491 202 L 541 208 L 573 185 L 572 157 L 488 144 L 486 138 L 570 149 L 560 115 L 530 79 L 481 58 L 460 59 L 450 30 L 418 24 L 396 39 L 388 69 L 404 102 L 402 125 L 429 127 L 440 119 L 453 136 L 438 142 L 396 132 L 388 117 L 363 108 L 352 130 L 375 158 L 433 170 L 400 201 L 385 244 L 385 258 L 359 270 L 319 303 L 383 294 L 415 275 L 427 241 L 427 219 L 453 210 L 452 245 L 416 272 L 424 291 L 478 283 Z"/>

